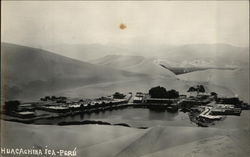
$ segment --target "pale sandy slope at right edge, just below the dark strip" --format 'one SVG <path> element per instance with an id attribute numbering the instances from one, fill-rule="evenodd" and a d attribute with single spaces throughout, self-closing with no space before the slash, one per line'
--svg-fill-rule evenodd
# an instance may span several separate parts
<path id="1" fill-rule="evenodd" d="M 249 103 L 249 68 L 236 70 L 210 69 L 178 75 L 178 78 L 223 86 Z"/>

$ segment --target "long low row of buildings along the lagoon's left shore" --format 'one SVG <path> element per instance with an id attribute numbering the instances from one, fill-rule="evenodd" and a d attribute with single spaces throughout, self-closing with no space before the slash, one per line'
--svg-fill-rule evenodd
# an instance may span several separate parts
<path id="1" fill-rule="evenodd" d="M 108 109 L 123 107 L 131 99 L 132 93 L 124 95 L 123 98 L 113 96 L 101 97 L 97 99 L 67 99 L 66 97 L 46 96 L 39 102 L 22 103 L 7 115 L 32 119 L 45 116 L 46 118 L 76 114 L 79 112 L 98 112 Z"/>

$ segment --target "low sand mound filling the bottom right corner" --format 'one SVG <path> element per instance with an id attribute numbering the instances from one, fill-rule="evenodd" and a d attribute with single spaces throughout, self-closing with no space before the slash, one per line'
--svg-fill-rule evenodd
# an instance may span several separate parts
<path id="1" fill-rule="evenodd" d="M 180 146 L 171 147 L 143 157 L 162 156 L 247 157 L 248 154 L 244 152 L 244 150 L 242 150 L 231 138 L 227 136 L 214 136 Z"/>

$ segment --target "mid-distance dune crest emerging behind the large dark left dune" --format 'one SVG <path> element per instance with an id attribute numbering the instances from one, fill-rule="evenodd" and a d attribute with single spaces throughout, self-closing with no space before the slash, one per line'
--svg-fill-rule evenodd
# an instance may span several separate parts
<path id="1" fill-rule="evenodd" d="M 154 77 L 174 77 L 174 73 L 162 67 L 155 58 L 126 55 L 107 55 L 92 61 L 98 65 L 113 67 L 130 72 L 143 73 Z"/>

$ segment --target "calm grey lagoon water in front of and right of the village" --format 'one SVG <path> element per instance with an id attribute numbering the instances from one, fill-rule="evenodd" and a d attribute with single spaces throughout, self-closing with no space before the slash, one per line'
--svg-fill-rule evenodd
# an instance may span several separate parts
<path id="1" fill-rule="evenodd" d="M 117 110 L 100 111 L 96 113 L 81 113 L 77 115 L 60 117 L 54 119 L 37 120 L 36 124 L 58 124 L 64 121 L 83 121 L 100 120 L 110 121 L 111 123 L 128 123 L 134 126 L 154 126 L 154 125 L 178 125 L 178 126 L 196 126 L 188 116 L 188 113 L 181 111 L 176 113 L 159 112 L 146 108 L 125 108 Z M 243 111 L 241 116 L 227 116 L 223 121 L 218 121 L 212 127 L 222 128 L 249 128 L 250 112 Z"/>

